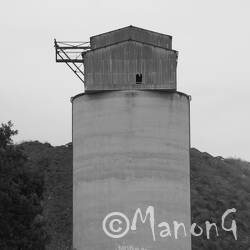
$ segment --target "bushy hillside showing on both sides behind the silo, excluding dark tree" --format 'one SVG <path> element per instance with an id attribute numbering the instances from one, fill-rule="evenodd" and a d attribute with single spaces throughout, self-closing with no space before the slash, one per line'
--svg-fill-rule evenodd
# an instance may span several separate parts
<path id="1" fill-rule="evenodd" d="M 45 210 L 51 243 L 48 249 L 70 249 L 72 241 L 72 147 L 52 147 L 39 142 L 20 145 L 33 163 L 45 167 Z M 193 237 L 193 250 L 250 249 L 250 163 L 223 159 L 191 149 L 192 222 L 205 230 L 205 221 L 216 222 L 219 236 Z M 236 208 L 237 241 L 221 228 L 221 216 Z M 229 218 L 230 219 L 230 218 Z M 230 227 L 228 221 L 227 227 Z"/>

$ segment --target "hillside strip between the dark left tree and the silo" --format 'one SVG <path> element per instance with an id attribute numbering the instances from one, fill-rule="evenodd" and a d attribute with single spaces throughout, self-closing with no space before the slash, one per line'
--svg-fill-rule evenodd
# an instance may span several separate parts
<path id="1" fill-rule="evenodd" d="M 18 145 L 32 169 L 44 173 L 43 216 L 50 242 L 46 250 L 71 250 L 72 246 L 72 144 L 53 147 L 38 141 Z M 41 171 L 42 172 L 42 171 Z"/>

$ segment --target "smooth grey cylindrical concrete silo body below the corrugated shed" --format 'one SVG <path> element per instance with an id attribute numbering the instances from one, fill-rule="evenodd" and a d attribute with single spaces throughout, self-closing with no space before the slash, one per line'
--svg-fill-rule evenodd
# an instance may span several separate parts
<path id="1" fill-rule="evenodd" d="M 189 99 L 177 92 L 110 91 L 73 99 L 77 250 L 191 249 L 190 234 L 183 237 L 180 230 L 176 240 L 172 225 L 176 220 L 190 229 L 189 130 Z M 149 218 L 122 238 L 104 232 L 109 213 L 121 212 L 131 223 L 137 208 L 145 214 L 149 206 L 155 209 L 155 241 Z M 162 221 L 172 237 L 160 237 Z M 114 221 L 117 233 L 126 229 L 122 222 Z"/>

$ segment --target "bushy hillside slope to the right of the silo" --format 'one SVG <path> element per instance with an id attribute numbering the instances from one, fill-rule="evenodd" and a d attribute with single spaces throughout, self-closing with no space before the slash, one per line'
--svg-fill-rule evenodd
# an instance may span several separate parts
<path id="1" fill-rule="evenodd" d="M 205 221 L 216 223 L 219 236 L 211 230 L 192 238 L 193 250 L 239 250 L 250 249 L 250 163 L 240 159 L 223 159 L 191 149 L 191 207 L 192 222 L 205 232 Z M 231 232 L 221 227 L 222 214 L 235 208 L 229 218 L 230 228 L 234 219 L 237 225 L 237 240 Z M 226 221 L 227 223 L 227 221 Z"/>

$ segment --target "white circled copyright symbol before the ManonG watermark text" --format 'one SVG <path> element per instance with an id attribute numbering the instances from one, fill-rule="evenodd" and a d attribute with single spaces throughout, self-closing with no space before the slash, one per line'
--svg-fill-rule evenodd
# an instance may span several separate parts
<path id="1" fill-rule="evenodd" d="M 128 217 L 120 212 L 112 212 L 104 218 L 102 229 L 111 238 L 122 238 L 129 231 Z"/>

